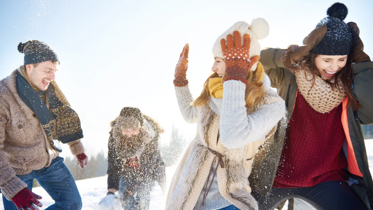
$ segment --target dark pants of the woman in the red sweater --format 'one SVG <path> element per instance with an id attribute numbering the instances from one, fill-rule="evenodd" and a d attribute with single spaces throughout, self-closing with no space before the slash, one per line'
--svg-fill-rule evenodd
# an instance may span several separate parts
<path id="1" fill-rule="evenodd" d="M 267 199 L 256 193 L 252 195 L 258 202 L 259 210 L 273 210 L 290 198 L 302 199 L 317 210 L 367 210 L 350 186 L 338 180 L 304 188 L 272 188 Z"/>

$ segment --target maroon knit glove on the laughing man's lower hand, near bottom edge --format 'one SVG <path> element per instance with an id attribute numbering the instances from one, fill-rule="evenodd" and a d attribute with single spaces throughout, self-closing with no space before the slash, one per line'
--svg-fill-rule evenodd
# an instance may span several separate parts
<path id="1" fill-rule="evenodd" d="M 42 207 L 43 204 L 41 204 L 37 199 L 40 200 L 41 196 L 31 192 L 28 188 L 24 188 L 12 198 L 12 201 L 18 210 L 21 208 L 38 210 L 38 207 Z M 35 207 L 34 204 L 38 207 Z"/>

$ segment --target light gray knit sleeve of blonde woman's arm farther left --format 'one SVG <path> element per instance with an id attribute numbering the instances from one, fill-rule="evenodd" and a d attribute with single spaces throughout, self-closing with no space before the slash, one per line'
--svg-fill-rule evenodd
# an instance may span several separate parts
<path id="1" fill-rule="evenodd" d="M 197 123 L 198 110 L 192 103 L 194 101 L 192 94 L 189 91 L 189 86 L 176 87 L 176 99 L 178 100 L 179 109 L 187 123 Z"/>

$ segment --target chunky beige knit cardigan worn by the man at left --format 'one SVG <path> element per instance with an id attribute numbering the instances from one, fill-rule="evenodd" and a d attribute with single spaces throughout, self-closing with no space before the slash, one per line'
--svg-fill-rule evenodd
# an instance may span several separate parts
<path id="1" fill-rule="evenodd" d="M 19 98 L 17 72 L 0 81 L 0 188 L 8 200 L 27 187 L 16 175 L 47 167 L 59 155 L 35 113 Z M 80 139 L 68 145 L 73 155 L 84 152 Z"/>

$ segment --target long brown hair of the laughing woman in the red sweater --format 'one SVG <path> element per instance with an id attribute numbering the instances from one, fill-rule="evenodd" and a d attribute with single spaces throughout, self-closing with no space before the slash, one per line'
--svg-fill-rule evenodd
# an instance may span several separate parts
<path id="1" fill-rule="evenodd" d="M 314 54 L 314 53 L 308 53 L 307 55 L 304 56 L 303 62 L 301 63 L 301 68 L 307 69 L 308 71 L 311 72 L 313 76 L 311 89 L 315 84 L 316 76 L 320 76 L 320 71 L 316 68 L 316 64 L 315 64 L 315 58 L 317 56 L 319 55 Z M 348 55 L 346 65 L 341 69 L 341 71 L 338 71 L 335 74 L 334 82 L 330 82 L 330 81 L 326 81 L 326 82 L 329 83 L 330 86 L 332 86 L 332 89 L 337 89 L 339 90 L 339 92 L 342 92 L 341 88 L 343 88 L 346 91 L 347 97 L 348 97 L 347 108 L 350 108 L 350 106 L 352 105 L 352 108 L 354 110 L 357 110 L 358 108 L 362 106 L 356 101 L 355 97 L 352 95 L 352 92 L 351 92 L 352 82 L 354 81 L 354 74 L 352 72 L 351 64 L 352 64 L 352 59 L 351 59 L 351 56 Z M 339 81 L 341 81 L 342 84 L 339 84 Z"/>

